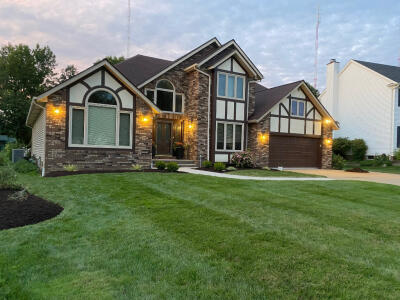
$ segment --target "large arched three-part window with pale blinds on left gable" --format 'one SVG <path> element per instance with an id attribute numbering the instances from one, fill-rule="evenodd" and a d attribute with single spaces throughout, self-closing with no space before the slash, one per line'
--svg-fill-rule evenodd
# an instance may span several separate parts
<path id="1" fill-rule="evenodd" d="M 111 92 L 96 90 L 86 105 L 71 109 L 70 144 L 86 147 L 131 147 L 132 113 L 120 110 Z"/>

